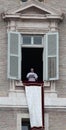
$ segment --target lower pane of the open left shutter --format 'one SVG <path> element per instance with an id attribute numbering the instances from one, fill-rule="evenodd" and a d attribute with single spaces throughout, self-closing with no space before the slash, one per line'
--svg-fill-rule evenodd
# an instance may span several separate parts
<path id="1" fill-rule="evenodd" d="M 10 56 L 10 76 L 18 78 L 18 57 Z"/>

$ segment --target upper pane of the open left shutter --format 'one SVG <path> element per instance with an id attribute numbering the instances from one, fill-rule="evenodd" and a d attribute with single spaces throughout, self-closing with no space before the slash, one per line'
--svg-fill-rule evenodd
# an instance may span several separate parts
<path id="1" fill-rule="evenodd" d="M 18 54 L 18 34 L 10 34 L 10 53 Z"/>

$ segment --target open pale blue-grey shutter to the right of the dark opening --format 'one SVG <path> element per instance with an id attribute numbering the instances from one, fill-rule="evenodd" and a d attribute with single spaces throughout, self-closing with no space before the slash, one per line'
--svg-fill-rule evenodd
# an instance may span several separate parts
<path id="1" fill-rule="evenodd" d="M 59 78 L 59 38 L 58 32 L 45 35 L 44 80 Z"/>

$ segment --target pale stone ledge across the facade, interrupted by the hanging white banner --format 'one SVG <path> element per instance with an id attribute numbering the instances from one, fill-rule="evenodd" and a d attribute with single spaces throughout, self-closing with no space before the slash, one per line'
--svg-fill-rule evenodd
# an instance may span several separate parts
<path id="1" fill-rule="evenodd" d="M 66 98 L 58 98 L 56 92 L 45 92 L 44 107 L 46 109 L 66 110 Z M 22 100 L 23 99 L 23 100 Z M 0 108 L 28 108 L 24 91 L 10 91 L 8 97 L 0 97 Z"/>

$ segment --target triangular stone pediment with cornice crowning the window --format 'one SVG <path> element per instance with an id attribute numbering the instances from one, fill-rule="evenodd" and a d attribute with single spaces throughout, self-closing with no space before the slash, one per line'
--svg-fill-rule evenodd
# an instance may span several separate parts
<path id="1" fill-rule="evenodd" d="M 63 19 L 62 12 L 36 0 L 23 3 L 18 9 L 3 14 L 4 19 Z"/>

